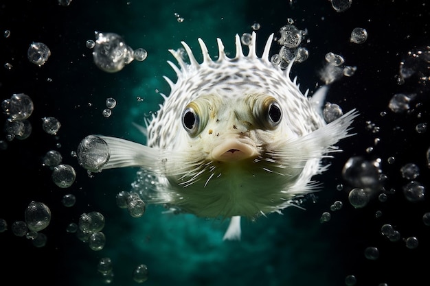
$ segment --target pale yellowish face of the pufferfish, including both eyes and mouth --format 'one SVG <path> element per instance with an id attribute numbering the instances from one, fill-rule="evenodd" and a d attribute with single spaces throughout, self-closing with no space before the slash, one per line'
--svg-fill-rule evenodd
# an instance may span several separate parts
<path id="1" fill-rule="evenodd" d="M 264 93 L 202 95 L 183 108 L 181 123 L 184 149 L 207 161 L 255 159 L 279 136 L 286 138 L 282 107 Z"/>

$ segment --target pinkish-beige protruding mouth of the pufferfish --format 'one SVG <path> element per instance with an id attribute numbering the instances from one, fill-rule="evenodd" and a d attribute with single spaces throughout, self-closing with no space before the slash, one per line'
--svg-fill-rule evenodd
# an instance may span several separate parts
<path id="1" fill-rule="evenodd" d="M 248 138 L 225 140 L 212 150 L 212 158 L 223 162 L 234 162 L 258 156 L 256 144 Z"/>

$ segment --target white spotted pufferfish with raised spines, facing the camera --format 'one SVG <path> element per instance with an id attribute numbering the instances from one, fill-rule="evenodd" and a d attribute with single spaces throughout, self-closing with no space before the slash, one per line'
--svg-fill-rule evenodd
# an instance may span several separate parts
<path id="1" fill-rule="evenodd" d="M 339 151 L 335 144 L 352 135 L 348 132 L 357 111 L 326 123 L 322 108 L 327 87 L 308 97 L 290 79 L 293 61 L 287 69 L 273 65 L 273 34 L 261 57 L 255 32 L 247 56 L 237 34 L 234 58 L 227 57 L 219 38 L 217 60 L 198 41 L 201 63 L 184 42 L 189 62 L 170 50 L 179 63 L 168 61 L 177 81 L 164 77 L 171 91 L 162 95 L 159 111 L 146 122 L 147 145 L 93 137 L 107 145 L 109 158 L 97 158 L 94 149 L 100 145 L 80 146 L 80 165 L 91 171 L 141 167 L 157 178 L 152 189 L 140 192 L 146 202 L 230 219 L 224 239 L 240 239 L 240 217 L 281 213 L 317 190 L 312 178 L 328 168 L 321 159 Z"/>

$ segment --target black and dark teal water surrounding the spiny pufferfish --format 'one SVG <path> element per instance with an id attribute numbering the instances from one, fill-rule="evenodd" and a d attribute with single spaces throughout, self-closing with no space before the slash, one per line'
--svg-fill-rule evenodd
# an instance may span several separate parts
<path id="1" fill-rule="evenodd" d="M 0 221 L 3 280 L 139 285 L 133 272 L 143 264 L 148 269 L 145 285 L 428 285 L 429 4 L 333 2 L 0 1 L 1 100 L 24 93 L 34 107 L 23 123 L 31 125 L 27 136 L 10 126 L 9 105 L 2 104 L 0 219 L 7 224 L 1 228 Z M 338 12 L 338 3 L 350 7 Z M 216 55 L 216 38 L 221 38 L 233 55 L 235 34 L 250 33 L 259 23 L 260 55 L 269 34 L 279 32 L 288 19 L 307 31 L 302 47 L 308 59 L 294 64 L 291 74 L 302 91 L 313 93 L 338 75 L 330 84 L 328 102 L 360 112 L 352 130 L 357 134 L 339 143 L 343 152 L 328 160 L 328 171 L 315 178 L 323 187 L 305 198 L 306 210 L 286 208 L 283 215 L 244 220 L 242 239 L 223 241 L 228 222 L 165 213 L 153 205 L 141 217 L 132 217 L 117 206 L 117 193 L 130 190 L 137 168 L 89 176 L 78 165 L 74 152 L 89 134 L 144 143 L 133 123 L 144 125 L 162 103 L 159 93 L 169 93 L 163 75 L 174 79 L 175 74 L 166 63 L 174 60 L 168 49 L 179 49 L 185 40 L 198 53 L 201 37 Z M 367 31 L 364 43 L 351 42 L 356 27 Z M 95 32 L 120 35 L 126 45 L 145 49 L 148 56 L 120 71 L 99 69 L 93 49 L 87 47 L 88 40 L 96 40 Z M 27 56 L 34 43 L 49 48 L 43 64 Z M 280 48 L 273 45 L 273 54 Z M 36 45 L 36 51 L 41 49 Z M 354 74 L 324 69 L 329 52 L 343 57 L 341 67 L 357 67 Z M 115 99 L 114 107 L 107 108 L 109 98 Z M 54 120 L 49 117 L 58 119 L 58 130 L 47 124 Z M 58 177 L 52 177 L 54 166 L 43 165 L 52 150 L 76 172 L 71 185 L 59 187 Z M 350 158 L 358 167 L 344 176 Z M 369 180 L 377 185 L 369 201 L 353 206 L 350 191 Z M 70 197 L 65 195 L 76 202 L 66 206 Z M 36 222 L 26 213 L 32 202 L 49 208 Z M 73 230 L 82 214 L 92 212 L 104 217 L 100 231 L 105 243 L 95 237 L 91 245 Z M 33 231 L 15 222 L 33 222 Z M 46 241 L 39 241 L 37 233 Z M 112 270 L 102 275 L 100 267 L 109 268 L 100 263 L 106 258 Z"/>

